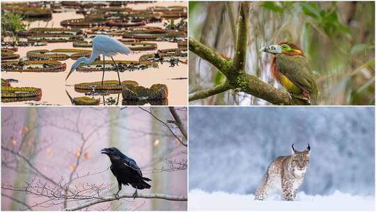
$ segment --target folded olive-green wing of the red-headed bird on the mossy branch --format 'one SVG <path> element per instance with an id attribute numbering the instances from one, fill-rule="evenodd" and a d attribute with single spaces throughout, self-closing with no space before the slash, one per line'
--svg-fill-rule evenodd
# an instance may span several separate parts
<path id="1" fill-rule="evenodd" d="M 303 91 L 311 93 L 315 82 L 306 58 L 280 54 L 276 57 L 276 66 L 293 84 Z"/>

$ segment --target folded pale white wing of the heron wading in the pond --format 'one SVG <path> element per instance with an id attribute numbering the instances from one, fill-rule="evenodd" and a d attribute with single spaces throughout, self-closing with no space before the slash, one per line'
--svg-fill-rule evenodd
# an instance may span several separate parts
<path id="1" fill-rule="evenodd" d="M 95 36 L 93 39 L 93 50 L 97 50 L 105 56 L 115 54 L 130 54 L 130 49 L 120 41 L 108 36 Z"/>

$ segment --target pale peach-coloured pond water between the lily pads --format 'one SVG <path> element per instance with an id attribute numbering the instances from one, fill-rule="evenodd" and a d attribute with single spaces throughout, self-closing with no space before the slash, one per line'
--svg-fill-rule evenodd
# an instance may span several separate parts
<path id="1" fill-rule="evenodd" d="M 127 7 L 133 9 L 145 9 L 150 6 L 187 6 L 185 2 L 155 2 L 155 3 L 130 3 Z M 83 15 L 76 14 L 75 11 L 67 11 L 63 13 L 53 13 L 52 20 L 35 21 L 30 22 L 29 28 L 33 27 L 61 27 L 60 22 L 67 19 L 82 18 Z M 151 23 L 147 24 L 150 27 L 163 27 L 163 23 Z M 118 37 L 120 38 L 120 37 Z M 177 48 L 177 43 L 169 42 L 155 42 L 148 41 L 148 43 L 157 43 L 158 50 L 165 50 L 171 48 Z M 26 56 L 26 52 L 31 50 L 54 50 L 62 48 L 75 48 L 72 46 L 72 42 L 68 43 L 47 43 L 42 47 L 18 47 L 18 51 L 15 54 L 19 54 L 21 57 Z M 79 47 L 75 49 L 91 50 L 91 48 Z M 129 55 L 117 55 L 114 56 L 115 60 L 127 60 L 127 61 L 139 61 L 139 57 L 143 54 L 154 53 L 152 51 L 132 52 Z M 102 59 L 102 56 L 101 56 Z M 106 60 L 111 60 L 106 58 Z M 72 105 L 70 98 L 85 96 L 85 93 L 78 93 L 74 89 L 74 85 L 81 82 L 97 82 L 102 80 L 102 72 L 91 73 L 79 73 L 75 72 L 70 75 L 67 81 L 65 77 L 68 75 L 68 71 L 75 61 L 67 59 L 61 61 L 66 63 L 67 69 L 61 73 L 14 73 L 14 72 L 1 72 L 1 78 L 3 79 L 17 79 L 19 82 L 13 82 L 11 85 L 15 87 L 32 86 L 42 89 L 42 98 L 39 101 L 22 101 L 13 103 L 1 103 L 2 105 Z M 169 67 L 170 63 L 159 63 L 158 68 L 147 68 L 145 70 L 125 71 L 120 73 L 120 79 L 133 80 L 138 82 L 140 86 L 149 88 L 152 84 L 166 84 L 169 90 L 168 105 L 187 105 L 187 64 L 179 63 L 178 66 Z M 104 80 L 117 80 L 118 75 L 114 71 L 107 71 L 104 74 Z M 119 96 L 119 99 L 118 99 Z M 100 98 L 100 105 L 104 105 L 107 99 L 115 98 L 118 101 L 118 105 L 122 104 L 122 96 L 113 93 L 106 96 L 94 96 Z"/>

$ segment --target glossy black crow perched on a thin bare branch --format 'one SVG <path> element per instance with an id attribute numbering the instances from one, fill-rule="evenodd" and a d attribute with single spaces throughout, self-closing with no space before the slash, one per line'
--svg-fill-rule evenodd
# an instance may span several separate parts
<path id="1" fill-rule="evenodd" d="M 151 187 L 151 185 L 145 182 L 151 180 L 142 176 L 141 169 L 132 158 L 128 158 L 115 147 L 104 148 L 100 153 L 106 154 L 111 160 L 110 169 L 112 174 L 116 176 L 119 187 L 119 190 L 115 195 L 116 197 L 118 197 L 118 193 L 121 190 L 121 184 L 132 185 L 133 188 L 136 188 L 136 191 L 133 194 L 134 199 L 137 197 L 137 189 Z"/>

